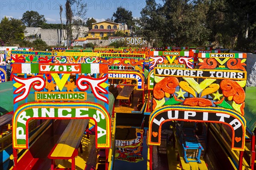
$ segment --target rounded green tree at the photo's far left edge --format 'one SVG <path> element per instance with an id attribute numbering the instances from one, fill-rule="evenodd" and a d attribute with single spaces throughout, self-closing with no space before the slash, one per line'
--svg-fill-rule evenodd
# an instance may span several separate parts
<path id="1" fill-rule="evenodd" d="M 0 39 L 3 42 L 13 44 L 24 39 L 26 26 L 21 20 L 4 17 L 0 23 Z"/>

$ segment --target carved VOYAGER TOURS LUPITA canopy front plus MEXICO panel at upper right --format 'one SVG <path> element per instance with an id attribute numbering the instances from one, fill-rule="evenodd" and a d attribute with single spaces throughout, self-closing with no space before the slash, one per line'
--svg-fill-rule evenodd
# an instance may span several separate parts
<path id="1" fill-rule="evenodd" d="M 198 57 L 198 69 L 154 68 L 148 144 L 160 145 L 164 122 L 213 122 L 230 126 L 232 149 L 243 151 L 246 54 L 199 53 Z"/>

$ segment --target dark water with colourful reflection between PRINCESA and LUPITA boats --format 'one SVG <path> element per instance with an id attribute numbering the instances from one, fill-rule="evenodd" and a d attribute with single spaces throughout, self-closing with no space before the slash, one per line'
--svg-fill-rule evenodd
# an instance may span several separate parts
<path id="1" fill-rule="evenodd" d="M 116 128 L 114 170 L 147 169 L 147 130 Z"/>

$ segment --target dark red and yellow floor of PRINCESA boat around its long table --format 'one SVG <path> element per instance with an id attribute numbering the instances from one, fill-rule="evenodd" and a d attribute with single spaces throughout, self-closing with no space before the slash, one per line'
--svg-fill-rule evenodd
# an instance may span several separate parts
<path id="1" fill-rule="evenodd" d="M 69 121 L 70 120 L 61 120 L 56 124 L 54 128 L 58 130 L 55 131 L 54 135 L 52 135 L 52 129 L 48 128 L 46 133 L 40 136 L 40 138 L 23 153 L 23 156 L 18 159 L 18 167 L 20 167 L 20 170 L 49 170 L 51 168 L 51 159 L 48 159 L 47 155 L 60 138 Z M 89 139 L 86 138 L 86 135 L 83 135 L 81 144 L 83 153 L 78 152 L 78 156 L 75 160 L 76 170 L 91 170 L 95 168 L 97 156 L 94 132 L 90 132 Z M 38 146 L 40 146 L 40 148 Z M 71 159 L 56 159 L 55 164 L 58 168 L 71 167 Z"/>

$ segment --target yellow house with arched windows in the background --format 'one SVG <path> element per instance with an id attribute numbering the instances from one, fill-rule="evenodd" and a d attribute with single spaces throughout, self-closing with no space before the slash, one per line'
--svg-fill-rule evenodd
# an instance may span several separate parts
<path id="1" fill-rule="evenodd" d="M 121 23 L 114 23 L 110 20 L 101 21 L 98 23 L 92 23 L 92 29 L 88 32 L 87 40 L 101 40 L 106 36 L 113 36 L 116 31 L 123 31 L 126 35 L 130 35 L 127 25 Z"/>

